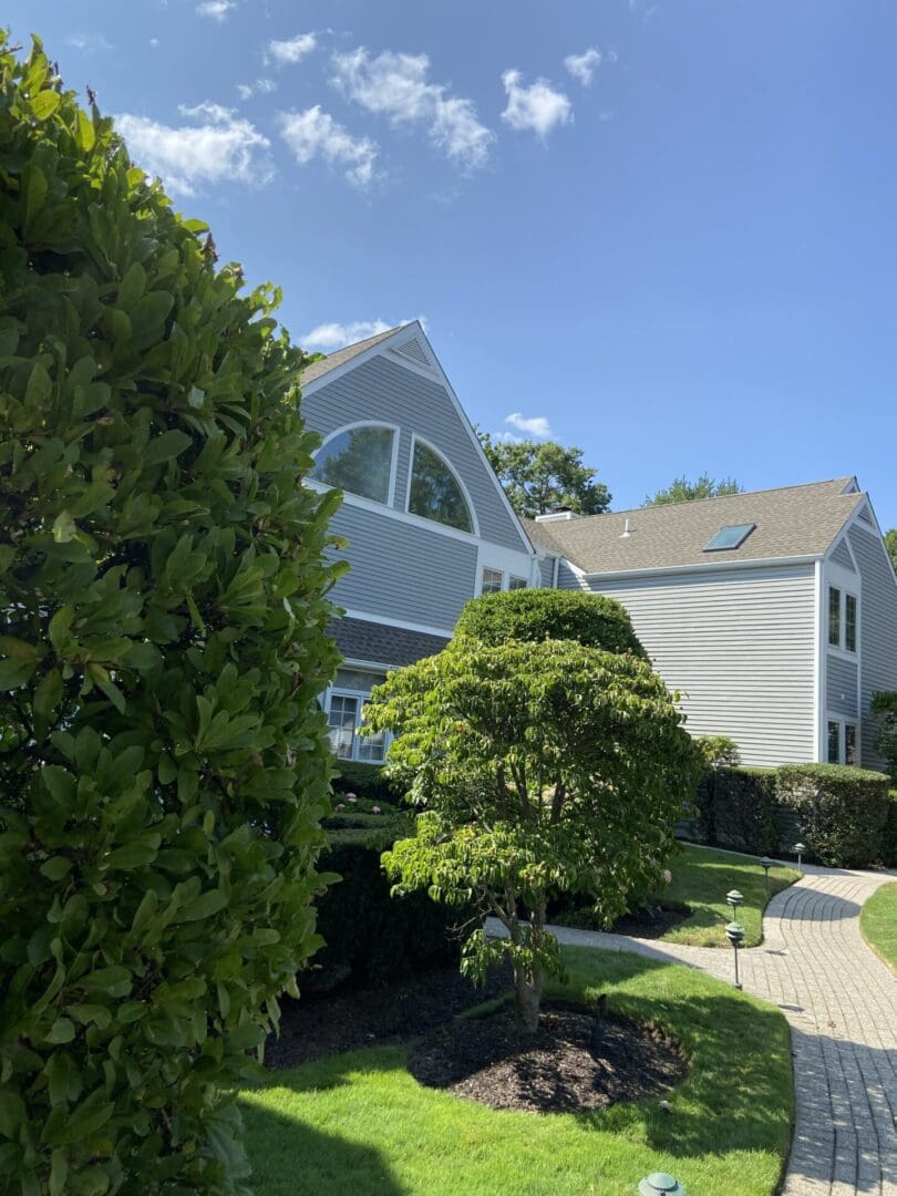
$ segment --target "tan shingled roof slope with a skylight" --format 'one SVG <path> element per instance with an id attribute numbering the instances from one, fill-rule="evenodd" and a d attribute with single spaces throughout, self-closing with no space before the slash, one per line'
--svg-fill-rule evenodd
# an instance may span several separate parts
<path id="1" fill-rule="evenodd" d="M 659 507 L 545 523 L 526 520 L 533 544 L 584 573 L 651 572 L 728 561 L 822 556 L 867 495 L 853 477 L 726 494 Z M 624 536 L 627 519 L 631 535 Z M 722 527 L 755 524 L 738 548 L 704 551 Z"/>

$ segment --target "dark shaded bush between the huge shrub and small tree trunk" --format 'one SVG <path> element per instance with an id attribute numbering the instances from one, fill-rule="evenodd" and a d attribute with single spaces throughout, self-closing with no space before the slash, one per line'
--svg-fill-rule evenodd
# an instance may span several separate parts
<path id="1" fill-rule="evenodd" d="M 464 911 L 447 911 L 426 893 L 390 896 L 380 854 L 410 832 L 410 819 L 386 817 L 371 825 L 373 817 L 367 816 L 367 825 L 349 825 L 330 835 L 323 862 L 342 879 L 318 901 L 318 930 L 325 946 L 300 975 L 303 990 L 327 990 L 347 981 L 386 987 L 426 968 L 457 965 L 460 958 L 452 927 Z"/>

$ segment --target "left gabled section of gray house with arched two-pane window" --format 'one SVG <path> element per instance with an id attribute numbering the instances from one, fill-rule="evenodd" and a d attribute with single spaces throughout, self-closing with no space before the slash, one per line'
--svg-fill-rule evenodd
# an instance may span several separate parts
<path id="1" fill-rule="evenodd" d="M 324 438 L 309 484 L 346 495 L 331 742 L 380 762 L 384 739 L 355 734 L 371 688 L 445 647 L 468 599 L 537 584 L 537 557 L 419 323 L 310 365 L 303 411 Z"/>

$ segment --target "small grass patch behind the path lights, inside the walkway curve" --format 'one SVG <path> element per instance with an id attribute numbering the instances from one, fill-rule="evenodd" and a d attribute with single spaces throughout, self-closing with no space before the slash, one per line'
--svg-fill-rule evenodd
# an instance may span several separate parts
<path id="1" fill-rule="evenodd" d="M 726 922 L 732 910 L 726 893 L 737 889 L 744 896 L 738 921 L 745 929 L 744 945 L 756 947 L 763 938 L 763 910 L 767 904 L 763 868 L 756 855 L 715 852 L 712 848 L 682 844 L 682 850 L 670 861 L 672 884 L 658 897 L 681 902 L 691 909 L 691 916 L 671 927 L 664 935 L 666 942 L 690 942 L 698 947 L 726 947 Z M 794 868 L 776 864 L 769 869 L 770 897 L 793 885 L 800 878 Z"/>

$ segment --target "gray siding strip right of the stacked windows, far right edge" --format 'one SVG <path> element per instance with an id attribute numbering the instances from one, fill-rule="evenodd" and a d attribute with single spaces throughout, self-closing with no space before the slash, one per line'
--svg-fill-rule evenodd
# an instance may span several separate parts
<path id="1" fill-rule="evenodd" d="M 860 709 L 861 763 L 884 768 L 875 752 L 875 724 L 869 719 L 872 695 L 879 689 L 897 689 L 897 585 L 885 547 L 872 530 L 859 523 L 848 531 L 850 548 L 862 578 L 860 594 Z"/>

